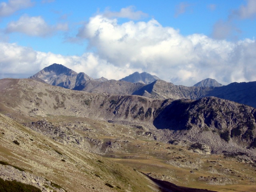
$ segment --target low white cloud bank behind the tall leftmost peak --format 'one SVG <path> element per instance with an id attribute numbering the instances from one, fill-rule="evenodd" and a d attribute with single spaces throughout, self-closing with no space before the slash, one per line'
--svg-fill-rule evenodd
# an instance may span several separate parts
<path id="1" fill-rule="evenodd" d="M 64 56 L 38 52 L 17 44 L 0 43 L 0 79 L 28 78 L 53 63 L 63 64 L 78 73 L 87 73 L 95 79 L 102 76 L 108 79 L 121 79 L 133 73 L 132 69 L 116 67 L 91 52 L 81 56 Z"/>

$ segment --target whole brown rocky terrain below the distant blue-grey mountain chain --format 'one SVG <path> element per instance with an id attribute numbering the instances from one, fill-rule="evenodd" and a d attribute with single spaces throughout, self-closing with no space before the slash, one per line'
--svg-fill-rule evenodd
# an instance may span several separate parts
<path id="1" fill-rule="evenodd" d="M 5 180 L 52 192 L 255 191 L 253 107 L 213 96 L 87 93 L 32 79 L 1 79 L 0 98 Z"/>

